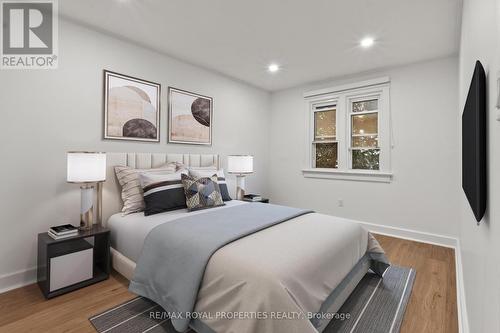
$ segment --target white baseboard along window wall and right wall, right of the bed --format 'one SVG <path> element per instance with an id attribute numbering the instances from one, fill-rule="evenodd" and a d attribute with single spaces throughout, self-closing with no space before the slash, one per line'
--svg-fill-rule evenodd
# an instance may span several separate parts
<path id="1" fill-rule="evenodd" d="M 469 321 L 467 319 L 467 307 L 465 305 L 465 288 L 462 268 L 462 255 L 460 241 L 458 238 L 432 234 L 428 232 L 415 231 L 386 225 L 360 222 L 368 231 L 375 234 L 392 236 L 421 243 L 444 246 L 455 250 L 455 274 L 457 288 L 457 314 L 458 329 L 460 333 L 469 333 Z"/>

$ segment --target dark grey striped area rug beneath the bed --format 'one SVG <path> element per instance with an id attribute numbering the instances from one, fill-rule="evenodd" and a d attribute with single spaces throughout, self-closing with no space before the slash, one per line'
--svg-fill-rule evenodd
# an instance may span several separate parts
<path id="1" fill-rule="evenodd" d="M 366 274 L 338 311 L 349 318 L 333 319 L 323 332 L 399 332 L 414 280 L 415 270 L 397 266 L 391 266 L 383 279 Z M 162 311 L 159 305 L 137 297 L 89 320 L 99 333 L 177 333 L 169 320 L 151 315 Z"/>

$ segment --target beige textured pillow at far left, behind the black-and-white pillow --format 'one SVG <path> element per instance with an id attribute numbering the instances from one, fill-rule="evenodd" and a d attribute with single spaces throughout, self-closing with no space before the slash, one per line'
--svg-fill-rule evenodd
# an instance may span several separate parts
<path id="1" fill-rule="evenodd" d="M 177 164 L 168 163 L 157 169 L 134 169 L 128 166 L 115 166 L 116 178 L 122 188 L 123 215 L 142 212 L 145 208 L 140 173 L 170 174 L 177 170 Z"/>

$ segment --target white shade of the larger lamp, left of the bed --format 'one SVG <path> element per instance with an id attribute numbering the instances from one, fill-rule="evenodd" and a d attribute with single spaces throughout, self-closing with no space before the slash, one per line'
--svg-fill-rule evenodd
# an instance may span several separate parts
<path id="1" fill-rule="evenodd" d="M 68 182 L 95 183 L 106 180 L 105 153 L 68 153 Z"/>

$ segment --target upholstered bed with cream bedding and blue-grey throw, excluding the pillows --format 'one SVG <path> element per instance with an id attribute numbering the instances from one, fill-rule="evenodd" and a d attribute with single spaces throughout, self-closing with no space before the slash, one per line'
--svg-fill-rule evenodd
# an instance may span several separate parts
<path id="1" fill-rule="evenodd" d="M 382 275 L 388 266 L 383 250 L 359 224 L 309 211 L 229 201 L 223 207 L 191 213 L 185 209 L 148 217 L 117 213 L 120 196 L 112 166 L 144 169 L 168 161 L 219 165 L 217 155 L 109 154 L 111 180 L 104 186 L 104 215 L 111 229 L 113 267 L 131 280 L 131 290 L 162 305 L 170 315 L 192 310 L 187 318 L 174 315 L 178 331 L 190 327 L 199 333 L 322 332 L 368 270 Z M 226 223 L 231 218 L 251 220 L 252 214 L 260 221 L 274 212 L 277 222 L 237 233 L 213 253 L 203 247 L 204 237 L 210 237 L 203 228 L 217 228 L 224 216 Z M 177 251 L 184 251 L 184 257 L 175 261 L 170 257 L 176 258 Z M 180 279 L 168 276 L 173 267 L 190 272 L 191 267 L 182 265 L 192 265 L 191 261 L 200 262 L 198 280 L 193 278 L 200 270 L 196 267 Z M 192 290 L 192 306 L 183 307 L 184 294 Z M 176 297 L 181 300 L 172 302 Z"/>

